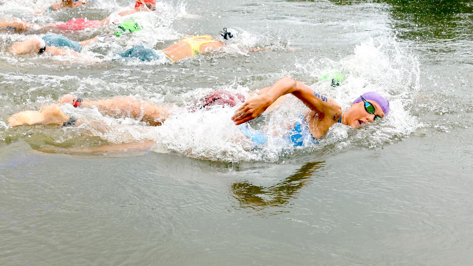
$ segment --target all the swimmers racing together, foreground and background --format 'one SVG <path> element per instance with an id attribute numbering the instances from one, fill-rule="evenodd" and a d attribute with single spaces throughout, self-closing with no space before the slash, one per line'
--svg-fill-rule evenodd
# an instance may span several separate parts
<path id="1" fill-rule="evenodd" d="M 87 3 L 76 0 L 62 0 L 61 3 L 54 4 L 46 9 L 46 12 L 74 8 Z M 79 56 L 79 52 L 84 45 L 105 42 L 119 37 L 124 32 L 132 33 L 141 30 L 140 25 L 133 20 L 129 19 L 119 23 L 118 17 L 128 16 L 135 12 L 154 12 L 155 10 L 155 0 L 137 0 L 134 9 L 124 10 L 101 21 L 75 18 L 66 23 L 38 26 L 18 18 L 8 18 L 0 23 L 0 29 L 28 31 L 33 28 L 51 29 L 54 27 L 79 30 L 87 27 L 101 27 L 111 23 L 117 24 L 117 31 L 114 35 L 101 35 L 76 42 L 61 35 L 48 34 L 42 38 L 36 37 L 17 42 L 9 49 L 10 53 L 17 55 L 36 53 L 38 56 L 42 56 L 44 54 L 62 55 L 67 53 Z M 210 35 L 190 36 L 162 50 L 155 50 L 145 45 L 137 45 L 120 53 L 120 55 L 138 58 L 142 61 L 164 60 L 166 62 L 176 62 L 200 53 L 219 51 L 221 47 L 226 46 L 237 37 L 238 32 L 236 30 L 224 28 L 223 31 L 219 32 L 219 40 L 214 39 Z M 201 98 L 195 108 L 207 108 L 212 105 L 237 106 L 231 120 L 240 127 L 243 136 L 257 146 L 267 142 L 268 136 L 275 133 L 271 130 L 267 132 L 265 130 L 250 130 L 246 123 L 263 114 L 263 112 L 271 112 L 281 104 L 290 104 L 291 101 L 286 101 L 286 98 L 292 95 L 308 107 L 300 110 L 299 116 L 295 118 L 294 122 L 288 124 L 287 128 L 289 130 L 284 134 L 288 144 L 295 147 L 317 143 L 333 124 L 341 123 L 350 127 L 359 127 L 363 124 L 382 119 L 389 112 L 389 101 L 374 91 L 360 95 L 359 98 L 352 102 L 348 110 L 342 112 L 342 107 L 332 98 L 319 94 L 307 85 L 289 77 L 284 77 L 270 87 L 256 90 L 249 95 L 248 98 L 245 98 L 243 95 L 228 91 L 213 91 Z M 137 100 L 132 97 L 92 100 L 67 94 L 61 97 L 58 104 L 43 107 L 40 111 L 22 111 L 10 116 L 8 124 L 10 126 L 37 124 L 71 126 L 87 122 L 78 121 L 74 117 L 65 114 L 61 106 L 66 104 L 77 108 L 96 107 L 105 115 L 131 117 L 150 126 L 158 126 L 165 123 L 170 115 L 178 115 L 180 112 L 189 112 L 195 109 L 159 106 L 150 101 Z M 294 106 L 294 108 L 296 107 Z M 139 145 L 142 145 L 142 143 Z"/>

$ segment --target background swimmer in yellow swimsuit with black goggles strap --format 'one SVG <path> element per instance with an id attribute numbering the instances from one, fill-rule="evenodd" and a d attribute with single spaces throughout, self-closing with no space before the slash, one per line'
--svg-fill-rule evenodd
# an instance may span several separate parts
<path id="1" fill-rule="evenodd" d="M 123 53 L 122 57 L 137 58 L 141 61 L 159 60 L 162 62 L 177 62 L 195 55 L 215 51 L 221 47 L 231 44 L 238 36 L 234 29 L 224 28 L 219 32 L 220 40 L 214 39 L 210 35 L 199 35 L 182 38 L 179 42 L 164 48 L 163 50 L 154 50 L 142 44 L 133 46 Z M 262 49 L 249 49 L 248 52 L 260 51 Z"/>

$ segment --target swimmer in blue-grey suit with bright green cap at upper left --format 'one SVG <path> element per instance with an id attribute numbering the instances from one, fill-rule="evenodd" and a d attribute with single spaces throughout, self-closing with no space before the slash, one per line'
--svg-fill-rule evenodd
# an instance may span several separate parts
<path id="1" fill-rule="evenodd" d="M 45 53 L 49 55 L 72 54 L 74 56 L 79 56 L 76 52 L 80 52 L 82 46 L 91 43 L 105 42 L 115 36 L 120 36 L 124 32 L 134 32 L 138 30 L 141 30 L 141 27 L 136 22 L 127 20 L 118 25 L 118 30 L 114 35 L 101 35 L 82 42 L 76 42 L 61 35 L 49 34 L 42 38 L 35 37 L 26 41 L 14 43 L 11 45 L 9 51 L 13 54 L 37 53 L 41 55 Z"/>

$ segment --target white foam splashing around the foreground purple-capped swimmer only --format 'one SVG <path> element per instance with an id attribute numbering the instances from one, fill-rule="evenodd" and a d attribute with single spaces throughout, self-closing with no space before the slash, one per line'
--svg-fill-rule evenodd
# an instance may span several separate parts
<path id="1" fill-rule="evenodd" d="M 271 114 L 250 123 L 252 128 L 259 129 L 268 136 L 268 142 L 257 147 L 230 120 L 236 107 L 215 106 L 196 112 L 179 109 L 158 127 L 149 127 L 136 120 L 103 116 L 96 109 L 77 109 L 70 106 L 67 111 L 79 120 L 93 121 L 82 124 L 79 128 L 110 143 L 152 140 L 157 143 L 153 147 L 156 152 L 172 151 L 196 159 L 231 162 L 276 162 L 308 153 L 329 156 L 360 146 L 371 149 L 401 140 L 422 126 L 408 110 L 412 102 L 410 99 L 419 92 L 418 62 L 410 53 L 403 51 L 394 38 L 364 42 L 357 46 L 352 55 L 340 62 L 313 59 L 303 67 L 299 66 L 309 73 L 320 73 L 332 67 L 338 67 L 346 73 L 346 80 L 336 88 L 330 86 L 329 81 L 316 82 L 311 85 L 315 91 L 334 98 L 341 104 L 342 109 L 346 110 L 354 98 L 366 91 L 375 90 L 390 100 L 391 111 L 383 120 L 357 129 L 334 124 L 318 144 L 305 143 L 304 147 L 294 148 L 283 137 L 288 133 L 289 126 L 307 110 L 293 97 L 289 97 L 288 103 Z M 301 72 L 298 75 L 305 74 Z M 228 89 L 245 95 L 254 89 L 236 85 L 237 83 L 238 81 L 218 89 Z M 146 88 L 144 89 L 146 91 Z M 185 108 L 187 104 L 211 90 L 202 88 L 175 94 L 175 102 Z M 147 99 L 152 95 L 148 93 L 143 97 L 136 94 L 135 97 Z M 154 96 L 156 104 L 164 101 L 162 96 Z M 273 131 L 279 134 L 273 135 Z"/>

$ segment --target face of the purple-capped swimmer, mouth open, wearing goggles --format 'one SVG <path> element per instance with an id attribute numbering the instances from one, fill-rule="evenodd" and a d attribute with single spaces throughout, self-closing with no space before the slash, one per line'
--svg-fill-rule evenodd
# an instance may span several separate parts
<path id="1" fill-rule="evenodd" d="M 377 102 L 368 100 L 368 103 L 372 104 L 375 107 L 375 113 L 370 114 L 365 109 L 365 103 L 363 101 L 359 103 L 352 104 L 350 108 L 343 114 L 344 120 L 351 127 L 359 127 L 368 122 L 373 122 L 375 116 L 379 117 L 384 116 L 383 109 L 378 105 Z"/>

